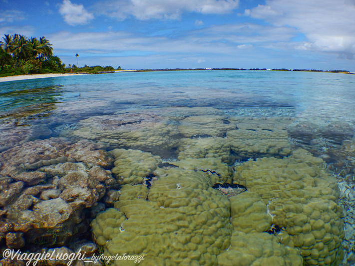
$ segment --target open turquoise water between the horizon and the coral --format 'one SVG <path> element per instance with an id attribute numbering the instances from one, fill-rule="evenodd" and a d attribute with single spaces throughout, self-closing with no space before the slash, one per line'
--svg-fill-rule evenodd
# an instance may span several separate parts
<path id="1" fill-rule="evenodd" d="M 164 106 L 289 107 L 300 116 L 352 121 L 354 87 L 354 75 L 335 73 L 124 72 L 3 82 L 0 110 L 41 103 L 52 103 L 57 112 L 82 113 L 84 107 L 87 114 Z"/>

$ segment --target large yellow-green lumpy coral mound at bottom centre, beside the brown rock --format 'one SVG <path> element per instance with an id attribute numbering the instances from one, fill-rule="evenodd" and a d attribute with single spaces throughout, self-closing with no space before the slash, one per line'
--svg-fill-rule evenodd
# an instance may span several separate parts
<path id="1" fill-rule="evenodd" d="M 145 265 L 216 265 L 230 244 L 228 198 L 200 172 L 173 168 L 165 173 L 149 194 L 142 185 L 121 190 L 117 209 L 92 222 L 97 243 L 107 255 L 145 254 Z"/>

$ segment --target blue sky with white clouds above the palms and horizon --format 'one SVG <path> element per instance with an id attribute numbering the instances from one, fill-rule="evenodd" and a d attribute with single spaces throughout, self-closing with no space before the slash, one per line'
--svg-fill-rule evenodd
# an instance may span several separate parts
<path id="1" fill-rule="evenodd" d="M 45 36 L 66 65 L 355 72 L 354 16 L 355 0 L 0 0 L 0 35 Z"/>

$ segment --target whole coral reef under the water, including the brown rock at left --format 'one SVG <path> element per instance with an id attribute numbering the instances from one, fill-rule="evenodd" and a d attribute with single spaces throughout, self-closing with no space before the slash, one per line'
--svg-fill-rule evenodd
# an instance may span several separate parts
<path id="1" fill-rule="evenodd" d="M 105 255 L 172 266 L 337 266 L 343 243 L 344 262 L 354 260 L 355 145 L 345 140 L 353 128 L 229 114 L 174 107 L 93 116 L 65 133 L 85 139 L 76 143 L 31 141 L 41 127 L 24 127 L 0 153 L 0 242 L 87 254 L 97 244 Z M 329 169 L 342 169 L 340 191 Z M 92 219 L 96 244 L 72 245 Z"/>

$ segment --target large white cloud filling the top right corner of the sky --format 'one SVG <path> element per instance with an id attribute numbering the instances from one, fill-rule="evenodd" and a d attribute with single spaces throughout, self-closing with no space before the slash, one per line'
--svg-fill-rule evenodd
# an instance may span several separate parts
<path id="1" fill-rule="evenodd" d="M 307 42 L 301 49 L 355 53 L 354 1 L 267 0 L 265 5 L 246 10 L 245 14 L 304 33 Z"/>

